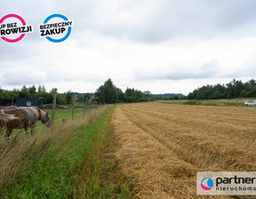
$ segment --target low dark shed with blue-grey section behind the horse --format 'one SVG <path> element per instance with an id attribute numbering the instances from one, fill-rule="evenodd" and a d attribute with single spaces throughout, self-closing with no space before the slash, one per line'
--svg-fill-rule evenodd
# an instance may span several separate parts
<path id="1" fill-rule="evenodd" d="M 43 100 L 38 98 L 0 98 L 0 107 L 40 107 L 43 109 Z"/>

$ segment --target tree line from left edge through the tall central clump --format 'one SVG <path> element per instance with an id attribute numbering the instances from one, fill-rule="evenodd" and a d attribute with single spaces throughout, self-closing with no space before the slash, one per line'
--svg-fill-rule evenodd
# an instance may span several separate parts
<path id="1" fill-rule="evenodd" d="M 108 79 L 103 85 L 96 90 L 95 93 L 78 93 L 78 92 L 64 92 L 58 93 L 56 102 L 60 105 L 70 105 L 73 98 L 76 96 L 76 102 L 88 103 L 92 100 L 93 103 L 120 103 L 120 102 L 142 102 L 155 100 L 151 92 L 141 92 L 139 90 L 127 88 L 125 92 L 117 88 L 111 79 Z M 0 98 L 41 98 L 44 104 L 51 104 L 53 100 L 53 89 L 46 92 L 44 85 L 35 85 L 27 87 L 23 85 L 21 89 L 13 89 L 6 91 L 0 87 Z"/>

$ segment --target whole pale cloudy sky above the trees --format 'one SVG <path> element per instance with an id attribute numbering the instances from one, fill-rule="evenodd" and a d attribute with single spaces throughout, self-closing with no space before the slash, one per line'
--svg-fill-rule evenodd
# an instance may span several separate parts
<path id="1" fill-rule="evenodd" d="M 95 92 L 108 78 L 125 91 L 188 94 L 205 84 L 256 79 L 253 0 L 13 0 L 0 7 L 33 26 L 0 39 L 0 85 Z M 74 21 L 60 44 L 39 36 L 52 13 Z"/>

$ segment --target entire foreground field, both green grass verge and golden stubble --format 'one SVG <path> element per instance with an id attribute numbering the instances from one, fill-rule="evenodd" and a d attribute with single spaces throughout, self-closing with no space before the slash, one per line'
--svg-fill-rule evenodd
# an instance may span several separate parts
<path id="1" fill-rule="evenodd" d="M 196 172 L 256 171 L 255 111 L 147 102 L 72 120 L 58 110 L 52 131 L 38 123 L 10 143 L 2 133 L 0 197 L 248 198 L 198 196 Z"/>

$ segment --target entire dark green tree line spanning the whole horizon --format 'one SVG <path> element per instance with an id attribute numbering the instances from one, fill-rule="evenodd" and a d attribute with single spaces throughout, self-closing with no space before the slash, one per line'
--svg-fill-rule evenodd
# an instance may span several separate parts
<path id="1" fill-rule="evenodd" d="M 72 104 L 73 97 L 76 96 L 77 102 L 88 102 L 92 100 L 95 103 L 122 103 L 122 102 L 144 102 L 153 100 L 218 100 L 232 98 L 256 98 L 256 81 L 243 83 L 240 80 L 233 79 L 228 84 L 204 85 L 198 87 L 193 92 L 189 92 L 188 96 L 180 93 L 155 94 L 151 92 L 141 92 L 134 88 L 127 88 L 123 92 L 120 88 L 113 84 L 109 78 L 104 84 L 96 90 L 95 93 L 78 93 L 64 92 L 57 94 L 57 104 L 69 105 Z M 27 87 L 23 85 L 21 89 L 13 89 L 6 91 L 0 87 L 0 98 L 41 98 L 44 104 L 50 104 L 53 100 L 53 90 L 46 92 L 44 85 L 35 85 Z"/>

